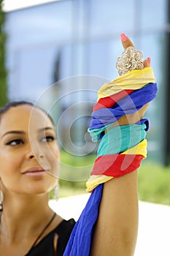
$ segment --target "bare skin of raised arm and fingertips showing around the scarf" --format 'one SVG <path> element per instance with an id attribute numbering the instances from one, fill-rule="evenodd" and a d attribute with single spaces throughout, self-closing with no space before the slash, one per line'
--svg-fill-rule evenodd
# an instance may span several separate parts
<path id="1" fill-rule="evenodd" d="M 134 47 L 124 34 L 121 35 L 121 39 L 124 49 Z M 150 58 L 143 62 L 143 66 L 150 67 Z M 135 113 L 120 117 L 109 129 L 136 124 L 144 116 L 148 105 L 149 103 Z M 104 183 L 98 220 L 93 233 L 91 256 L 134 255 L 139 216 L 137 179 L 136 170 Z"/>

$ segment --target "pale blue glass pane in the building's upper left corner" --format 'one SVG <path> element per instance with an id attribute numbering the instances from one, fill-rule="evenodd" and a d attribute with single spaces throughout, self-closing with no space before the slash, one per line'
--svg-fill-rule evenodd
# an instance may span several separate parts
<path id="1" fill-rule="evenodd" d="M 66 43 L 72 39 L 72 1 L 42 4 L 7 14 L 9 44 L 14 47 Z"/>

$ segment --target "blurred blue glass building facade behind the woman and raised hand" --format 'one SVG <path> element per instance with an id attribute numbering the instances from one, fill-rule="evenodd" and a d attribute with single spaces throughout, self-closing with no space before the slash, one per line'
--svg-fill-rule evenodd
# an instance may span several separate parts
<path id="1" fill-rule="evenodd" d="M 148 158 L 168 161 L 168 0 L 53 1 L 7 12 L 6 31 L 9 99 L 41 102 L 61 124 L 61 146 L 72 151 L 74 143 L 75 154 L 95 150 L 86 134 L 90 112 L 98 88 L 117 77 L 120 33 L 128 34 L 151 56 L 158 83 L 146 114 Z"/>

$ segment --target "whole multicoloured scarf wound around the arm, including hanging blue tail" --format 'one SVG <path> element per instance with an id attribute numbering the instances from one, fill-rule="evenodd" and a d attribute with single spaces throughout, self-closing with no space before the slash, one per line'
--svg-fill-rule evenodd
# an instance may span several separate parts
<path id="1" fill-rule="evenodd" d="M 151 102 L 156 93 L 157 85 L 151 67 L 127 72 L 99 89 L 88 129 L 93 141 L 101 140 L 86 184 L 91 195 L 72 230 L 63 256 L 90 255 L 104 182 L 131 173 L 147 157 L 147 119 L 136 124 L 108 128 L 121 116 L 135 113 Z M 106 129 L 107 133 L 104 134 Z"/>

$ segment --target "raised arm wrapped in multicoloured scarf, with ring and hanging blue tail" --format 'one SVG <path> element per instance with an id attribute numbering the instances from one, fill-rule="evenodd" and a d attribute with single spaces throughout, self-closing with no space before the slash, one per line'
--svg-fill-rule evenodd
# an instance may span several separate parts
<path id="1" fill-rule="evenodd" d="M 137 169 L 147 157 L 148 121 L 142 117 L 156 96 L 157 86 L 150 58 L 142 61 L 142 52 L 134 48 L 131 40 L 125 34 L 121 39 L 125 50 L 117 59 L 120 77 L 98 90 L 88 129 L 93 141 L 100 140 L 86 184 L 91 195 L 64 256 L 134 255 Z"/>

